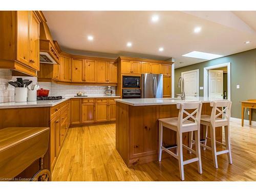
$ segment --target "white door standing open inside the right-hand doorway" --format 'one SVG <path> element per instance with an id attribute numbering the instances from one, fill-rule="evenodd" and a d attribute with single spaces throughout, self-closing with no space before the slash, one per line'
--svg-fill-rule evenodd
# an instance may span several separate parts
<path id="1" fill-rule="evenodd" d="M 223 98 L 223 71 L 208 70 L 208 97 Z"/>

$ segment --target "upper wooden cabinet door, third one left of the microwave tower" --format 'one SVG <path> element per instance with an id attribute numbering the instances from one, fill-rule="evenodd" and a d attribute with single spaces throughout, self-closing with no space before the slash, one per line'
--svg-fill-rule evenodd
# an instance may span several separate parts
<path id="1" fill-rule="evenodd" d="M 86 82 L 96 82 L 96 61 L 86 60 L 84 62 L 84 80 Z"/>

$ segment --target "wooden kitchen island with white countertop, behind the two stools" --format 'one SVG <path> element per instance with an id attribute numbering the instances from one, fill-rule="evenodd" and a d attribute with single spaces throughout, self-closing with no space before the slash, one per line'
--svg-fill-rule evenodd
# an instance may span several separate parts
<path id="1" fill-rule="evenodd" d="M 158 119 L 178 117 L 177 102 L 201 101 L 202 114 L 210 115 L 210 101 L 219 98 L 191 97 L 185 100 L 172 98 L 115 99 L 116 101 L 116 149 L 125 164 L 130 167 L 156 161 L 158 157 Z M 201 125 L 202 126 L 202 125 Z M 206 127 L 203 127 L 203 130 Z M 203 133 L 201 132 L 201 139 Z M 222 127 L 216 128 L 216 139 L 222 140 Z M 164 128 L 163 145 L 176 144 L 176 133 Z M 188 133 L 183 134 L 183 144 L 188 144 Z M 168 154 L 163 152 L 163 157 Z"/>

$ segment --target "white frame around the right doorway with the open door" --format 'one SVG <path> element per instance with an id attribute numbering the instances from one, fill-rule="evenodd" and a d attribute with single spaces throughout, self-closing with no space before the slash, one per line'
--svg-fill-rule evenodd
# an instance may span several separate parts
<path id="1" fill-rule="evenodd" d="M 215 66 L 205 67 L 204 68 L 204 97 L 208 97 L 208 70 L 216 69 L 220 67 L 227 67 L 227 98 L 231 100 L 231 74 L 230 74 L 230 62 L 222 63 Z"/>

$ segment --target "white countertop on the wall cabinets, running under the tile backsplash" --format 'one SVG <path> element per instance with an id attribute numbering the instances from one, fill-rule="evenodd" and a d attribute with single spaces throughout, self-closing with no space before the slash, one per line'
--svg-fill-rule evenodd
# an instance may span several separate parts
<path id="1" fill-rule="evenodd" d="M 4 102 L 0 103 L 0 109 L 12 109 L 12 108 L 42 108 L 55 106 L 63 101 L 67 101 L 71 98 L 120 98 L 120 96 L 88 96 L 88 97 L 65 97 L 60 100 L 41 100 L 41 101 L 28 101 L 28 102 Z"/>

